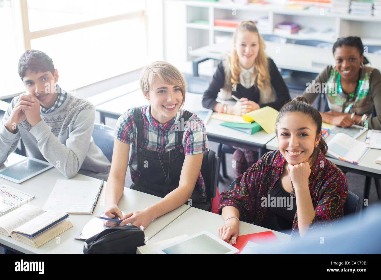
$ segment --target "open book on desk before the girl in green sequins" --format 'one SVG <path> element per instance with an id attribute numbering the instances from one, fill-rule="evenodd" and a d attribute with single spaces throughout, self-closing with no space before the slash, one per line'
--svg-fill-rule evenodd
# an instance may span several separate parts
<path id="1" fill-rule="evenodd" d="M 327 155 L 354 164 L 359 164 L 369 150 L 365 142 L 356 140 L 344 133 L 335 134 L 335 136 L 328 141 L 327 145 Z"/>

